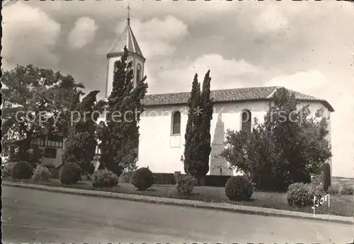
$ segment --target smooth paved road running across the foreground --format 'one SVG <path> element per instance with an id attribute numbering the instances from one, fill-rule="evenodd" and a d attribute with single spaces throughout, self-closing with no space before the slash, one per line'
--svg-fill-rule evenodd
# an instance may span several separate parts
<path id="1" fill-rule="evenodd" d="M 353 226 L 3 187 L 3 242 L 348 243 Z"/>

